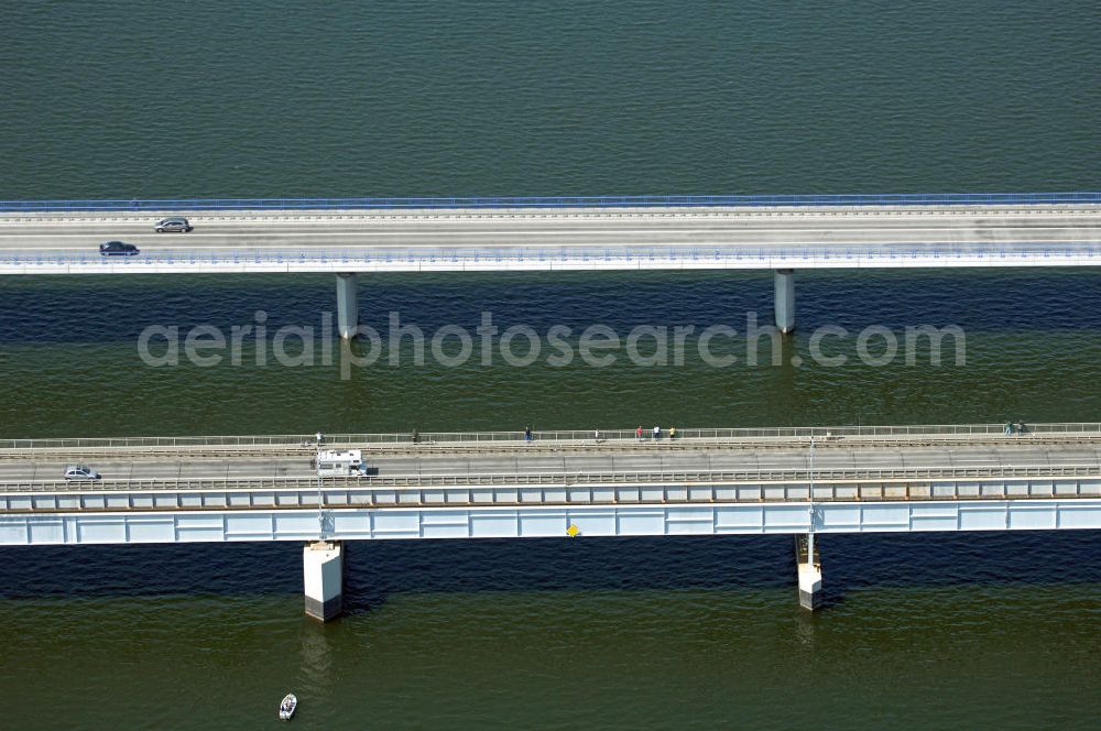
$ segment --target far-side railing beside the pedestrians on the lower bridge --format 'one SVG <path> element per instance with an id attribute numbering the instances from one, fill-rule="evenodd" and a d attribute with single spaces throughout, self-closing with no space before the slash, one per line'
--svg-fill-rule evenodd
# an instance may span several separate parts
<path id="1" fill-rule="evenodd" d="M 532 432 L 537 443 L 595 444 L 654 441 L 652 426 L 644 426 L 640 439 L 636 429 L 538 429 Z M 1026 424 L 1025 435 L 1099 435 L 1101 422 L 1051 422 Z M 676 440 L 804 440 L 815 437 L 824 443 L 841 438 L 959 437 L 1005 436 L 1004 423 L 986 424 L 912 424 L 884 426 L 793 426 L 793 427 L 677 427 Z M 162 437 L 75 437 L 42 439 L 0 439 L 0 449 L 110 449 L 151 447 L 315 447 L 315 434 L 232 435 L 232 436 L 162 436 Z M 523 443 L 524 432 L 421 432 L 418 445 L 464 445 Z M 662 427 L 658 441 L 668 441 L 667 427 Z M 413 445 L 411 432 L 323 434 L 323 446 Z"/>

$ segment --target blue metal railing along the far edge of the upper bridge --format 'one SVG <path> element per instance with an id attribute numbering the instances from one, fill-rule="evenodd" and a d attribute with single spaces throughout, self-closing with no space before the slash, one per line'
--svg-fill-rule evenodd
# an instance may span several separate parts
<path id="1" fill-rule="evenodd" d="M 961 206 L 1014 204 L 1101 204 L 1101 193 L 55 199 L 0 200 L 0 211 L 608 208 L 665 206 Z"/>

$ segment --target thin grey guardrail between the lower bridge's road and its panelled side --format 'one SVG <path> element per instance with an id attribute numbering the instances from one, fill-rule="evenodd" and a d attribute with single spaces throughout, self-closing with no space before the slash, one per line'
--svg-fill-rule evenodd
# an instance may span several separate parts
<path id="1" fill-rule="evenodd" d="M 882 482 L 913 480 L 962 480 L 1000 478 L 1098 477 L 1098 465 L 1028 465 L 988 467 L 915 467 L 882 469 L 761 469 L 761 470 L 643 470 L 625 472 L 517 472 L 493 474 L 400 474 L 374 477 L 324 478 L 142 478 L 95 482 L 6 482 L 4 492 L 88 492 L 88 491 L 179 491 L 179 490 L 318 490 L 334 487 L 359 489 L 432 487 L 524 487 L 575 484 L 727 484 L 759 482 Z"/>

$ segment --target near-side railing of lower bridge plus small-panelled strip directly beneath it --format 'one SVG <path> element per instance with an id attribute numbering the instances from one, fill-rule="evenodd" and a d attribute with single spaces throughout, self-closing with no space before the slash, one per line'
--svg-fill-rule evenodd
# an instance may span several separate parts
<path id="1" fill-rule="evenodd" d="M 831 472 L 837 472 L 833 474 Z M 532 493 L 530 489 L 538 490 Z M 917 468 L 827 470 L 815 473 L 814 500 L 966 500 L 992 498 L 1101 498 L 1101 470 L 1097 465 L 1001 468 Z M 227 491 L 251 493 L 247 502 L 219 500 Z M 81 495 L 130 493 L 145 495 L 145 508 L 249 509 L 270 504 L 294 508 L 303 498 L 325 494 L 327 505 L 369 506 L 434 503 L 545 504 L 586 502 L 761 502 L 811 498 L 806 470 L 778 471 L 672 471 L 614 473 L 517 473 L 395 476 L 330 478 L 318 483 L 310 478 L 135 479 L 70 484 L 66 482 L 17 482 L 0 488 L 0 512 L 39 511 L 83 506 Z M 182 495 L 198 500 L 183 502 Z M 45 498 L 50 502 L 42 502 Z M 172 504 L 175 498 L 175 505 Z M 100 503 L 116 506 L 115 503 Z M 133 503 L 131 506 L 134 506 Z"/>

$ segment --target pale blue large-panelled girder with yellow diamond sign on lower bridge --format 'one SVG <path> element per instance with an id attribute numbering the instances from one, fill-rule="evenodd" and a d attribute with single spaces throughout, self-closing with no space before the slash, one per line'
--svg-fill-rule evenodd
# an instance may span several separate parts
<path id="1" fill-rule="evenodd" d="M 806 502 L 732 504 L 337 508 L 0 515 L 0 545 L 372 541 L 795 534 L 811 530 Z M 814 532 L 1101 528 L 1101 499 L 830 502 Z"/>

